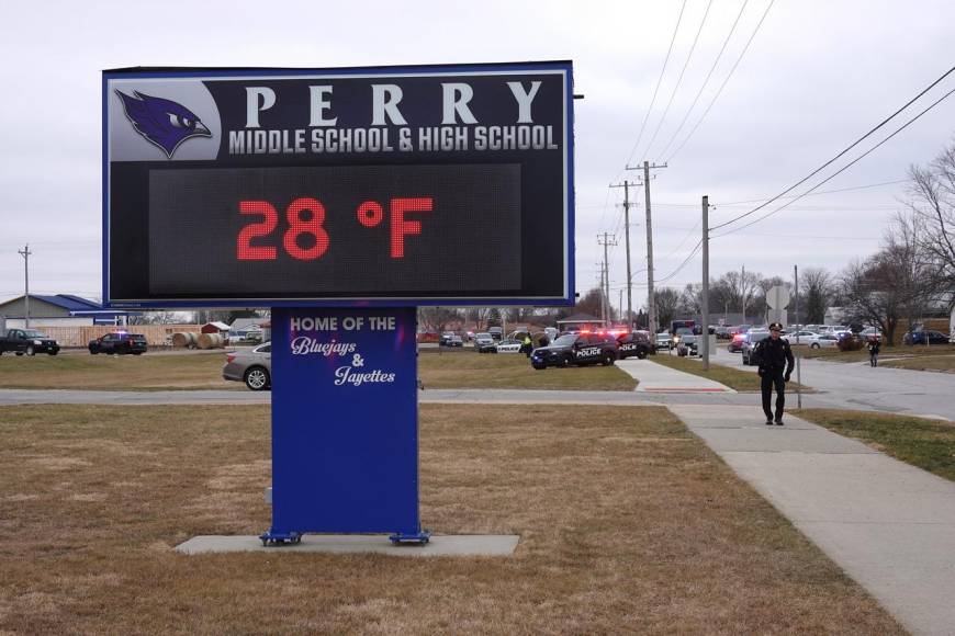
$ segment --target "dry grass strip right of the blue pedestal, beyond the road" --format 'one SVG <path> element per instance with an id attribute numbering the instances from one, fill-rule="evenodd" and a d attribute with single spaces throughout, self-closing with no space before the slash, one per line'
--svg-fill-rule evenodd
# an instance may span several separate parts
<path id="1" fill-rule="evenodd" d="M 471 349 L 423 349 L 418 377 L 425 388 L 514 388 L 551 390 L 633 390 L 637 381 L 616 366 L 549 367 L 537 371 L 523 353 Z"/>

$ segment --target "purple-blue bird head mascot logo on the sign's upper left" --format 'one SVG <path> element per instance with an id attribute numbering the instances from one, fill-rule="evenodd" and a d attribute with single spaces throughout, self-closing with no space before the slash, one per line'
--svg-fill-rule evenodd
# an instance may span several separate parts
<path id="1" fill-rule="evenodd" d="M 135 96 L 116 91 L 133 128 L 158 146 L 171 159 L 176 149 L 192 137 L 212 137 L 199 117 L 182 104 L 133 91 Z"/>

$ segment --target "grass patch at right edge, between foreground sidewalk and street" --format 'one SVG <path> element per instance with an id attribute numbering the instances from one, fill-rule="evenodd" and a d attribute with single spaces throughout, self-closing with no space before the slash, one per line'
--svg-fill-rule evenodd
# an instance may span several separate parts
<path id="1" fill-rule="evenodd" d="M 955 425 L 952 422 L 833 409 L 802 409 L 796 414 L 955 481 Z"/>

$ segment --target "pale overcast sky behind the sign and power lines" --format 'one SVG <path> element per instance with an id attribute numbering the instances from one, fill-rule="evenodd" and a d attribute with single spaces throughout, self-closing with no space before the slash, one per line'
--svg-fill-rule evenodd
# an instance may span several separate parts
<path id="1" fill-rule="evenodd" d="M 106 68 L 571 59 L 574 90 L 586 95 L 575 102 L 577 291 L 597 285 L 603 258 L 597 235 L 614 234 L 619 243 L 610 252 L 616 304 L 616 291 L 626 285 L 623 192 L 608 184 L 640 177 L 623 170 L 628 161 L 668 162 L 654 171 L 651 183 L 655 277 L 682 287 L 700 281 L 699 254 L 673 272 L 699 240 L 701 195 L 716 206 L 711 225 L 752 209 L 835 156 L 955 63 L 955 4 L 942 0 L 776 0 L 772 5 L 769 0 L 688 0 L 658 90 L 683 7 L 682 0 L 12 3 L 0 27 L 0 299 L 23 293 L 23 259 L 16 252 L 27 242 L 31 292 L 97 298 L 102 293 L 100 71 Z M 953 88 L 955 73 L 794 193 Z M 908 200 L 899 181 L 909 166 L 928 163 L 953 143 L 953 115 L 955 96 L 820 190 L 881 185 L 807 196 L 767 220 L 715 239 L 711 274 L 743 265 L 786 277 L 793 265 L 838 272 L 874 252 L 888 219 Z M 639 202 L 631 208 L 630 232 L 636 309 L 647 284 L 642 189 L 631 200 Z"/>

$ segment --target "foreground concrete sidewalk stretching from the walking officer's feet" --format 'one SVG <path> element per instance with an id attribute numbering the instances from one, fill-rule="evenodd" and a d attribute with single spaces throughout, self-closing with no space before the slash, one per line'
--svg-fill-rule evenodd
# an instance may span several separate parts
<path id="1" fill-rule="evenodd" d="M 671 406 L 913 634 L 955 634 L 955 482 L 757 406 Z"/>

